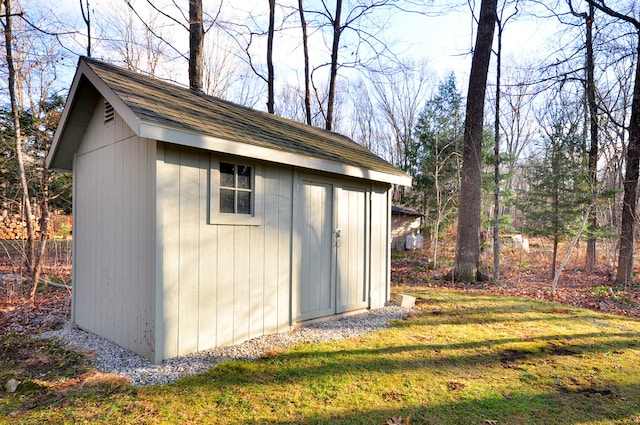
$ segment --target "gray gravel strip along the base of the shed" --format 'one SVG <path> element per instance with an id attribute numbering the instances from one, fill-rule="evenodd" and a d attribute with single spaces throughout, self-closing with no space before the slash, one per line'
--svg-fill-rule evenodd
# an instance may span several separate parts
<path id="1" fill-rule="evenodd" d="M 401 319 L 409 309 L 388 306 L 338 320 L 318 322 L 291 332 L 258 337 L 242 344 L 200 351 L 165 360 L 154 365 L 149 360 L 102 337 L 79 329 L 39 334 L 40 338 L 55 338 L 72 350 L 92 359 L 101 372 L 125 377 L 132 385 L 159 385 L 208 371 L 224 360 L 253 360 L 272 350 L 289 348 L 306 342 L 335 341 L 354 338 L 387 327 L 391 320 Z"/>

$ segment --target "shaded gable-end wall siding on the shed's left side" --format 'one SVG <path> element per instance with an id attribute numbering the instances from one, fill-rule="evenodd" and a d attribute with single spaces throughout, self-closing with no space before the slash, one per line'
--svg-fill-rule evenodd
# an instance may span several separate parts
<path id="1" fill-rule="evenodd" d="M 74 169 L 74 320 L 154 355 L 155 143 L 98 102 Z"/>

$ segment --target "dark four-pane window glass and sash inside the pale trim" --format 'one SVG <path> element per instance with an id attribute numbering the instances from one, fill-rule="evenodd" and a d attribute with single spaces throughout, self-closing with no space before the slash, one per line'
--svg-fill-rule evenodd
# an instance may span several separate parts
<path id="1" fill-rule="evenodd" d="M 252 214 L 252 169 L 248 165 L 220 163 L 220 212 Z"/>

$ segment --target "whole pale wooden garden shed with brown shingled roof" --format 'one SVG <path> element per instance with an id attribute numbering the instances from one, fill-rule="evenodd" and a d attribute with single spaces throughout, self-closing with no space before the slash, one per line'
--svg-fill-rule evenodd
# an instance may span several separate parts
<path id="1" fill-rule="evenodd" d="M 389 300 L 390 188 L 340 134 L 80 58 L 72 321 L 153 362 Z"/>

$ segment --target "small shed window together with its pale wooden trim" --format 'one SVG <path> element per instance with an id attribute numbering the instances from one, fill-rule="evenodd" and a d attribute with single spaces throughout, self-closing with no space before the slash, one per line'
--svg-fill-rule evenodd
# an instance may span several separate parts
<path id="1" fill-rule="evenodd" d="M 227 155 L 212 155 L 210 161 L 209 224 L 261 225 L 262 165 Z"/>

